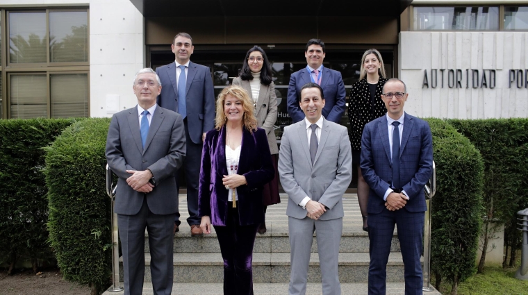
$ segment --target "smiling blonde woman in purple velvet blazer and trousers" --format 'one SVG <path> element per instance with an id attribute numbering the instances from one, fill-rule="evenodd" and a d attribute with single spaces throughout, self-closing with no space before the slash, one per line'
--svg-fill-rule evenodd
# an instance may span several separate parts
<path id="1" fill-rule="evenodd" d="M 274 177 L 265 130 L 239 86 L 224 88 L 217 100 L 215 129 L 201 153 L 198 209 L 200 228 L 211 224 L 224 259 L 224 294 L 253 294 L 251 262 L 258 225 L 264 222 L 263 186 Z"/>

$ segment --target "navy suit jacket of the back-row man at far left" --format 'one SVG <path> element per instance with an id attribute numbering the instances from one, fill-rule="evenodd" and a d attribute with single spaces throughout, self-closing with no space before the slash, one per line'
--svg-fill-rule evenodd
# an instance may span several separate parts
<path id="1" fill-rule="evenodd" d="M 178 112 L 178 85 L 176 85 L 176 62 L 156 68 L 160 76 L 161 93 L 158 106 Z M 189 136 L 195 144 L 201 144 L 201 135 L 215 127 L 215 92 L 211 70 L 203 65 L 189 62 L 185 87 L 185 106 Z"/>

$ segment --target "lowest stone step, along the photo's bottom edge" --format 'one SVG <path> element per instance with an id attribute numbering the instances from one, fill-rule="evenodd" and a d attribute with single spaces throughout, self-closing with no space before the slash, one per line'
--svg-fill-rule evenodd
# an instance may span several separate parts
<path id="1" fill-rule="evenodd" d="M 123 286 L 123 283 L 121 283 Z M 288 294 L 288 283 L 254 283 L 255 295 L 277 295 Z M 367 294 L 367 283 L 341 283 L 342 295 L 364 295 Z M 404 294 L 404 283 L 387 283 L 387 295 Z M 124 292 L 104 292 L 103 295 L 123 295 Z M 154 295 L 151 283 L 143 284 L 143 295 Z M 222 283 L 174 283 L 172 294 L 178 295 L 219 295 L 222 294 Z M 424 292 L 425 295 L 441 295 L 434 289 Z M 322 295 L 321 283 L 308 283 L 306 295 Z"/>

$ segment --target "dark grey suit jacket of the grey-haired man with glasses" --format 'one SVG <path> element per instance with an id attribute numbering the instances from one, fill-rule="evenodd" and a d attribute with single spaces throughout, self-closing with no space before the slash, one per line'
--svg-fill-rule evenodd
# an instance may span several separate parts
<path id="1" fill-rule="evenodd" d="M 138 107 L 118 112 L 110 121 L 106 138 L 106 160 L 119 177 L 114 212 L 134 215 L 142 206 L 145 194 L 136 192 L 127 183 L 126 170 L 150 169 L 156 187 L 147 194 L 147 204 L 154 214 L 176 212 L 176 172 L 185 158 L 185 133 L 181 115 L 156 107 L 147 135 L 145 149 L 141 144 Z"/>

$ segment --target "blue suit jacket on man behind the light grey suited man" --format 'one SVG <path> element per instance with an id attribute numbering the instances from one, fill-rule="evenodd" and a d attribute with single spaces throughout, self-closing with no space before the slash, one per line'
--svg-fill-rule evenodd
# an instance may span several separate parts
<path id="1" fill-rule="evenodd" d="M 310 83 L 311 81 L 310 73 L 308 73 L 306 67 L 290 76 L 290 85 L 288 86 L 288 115 L 292 118 L 293 123 L 297 123 L 305 117 L 304 112 L 299 106 L 301 88 L 304 84 Z M 341 73 L 323 67 L 321 87 L 324 95 L 322 115 L 328 121 L 339 124 L 341 117 L 345 113 L 345 96 L 347 96 Z"/>

